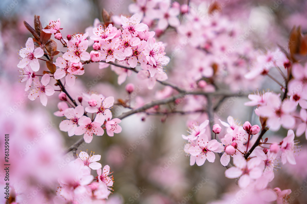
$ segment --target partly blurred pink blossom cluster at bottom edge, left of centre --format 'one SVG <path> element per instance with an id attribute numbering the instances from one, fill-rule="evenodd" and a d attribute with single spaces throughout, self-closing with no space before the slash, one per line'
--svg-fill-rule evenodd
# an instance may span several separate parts
<path id="1" fill-rule="evenodd" d="M 107 199 L 113 186 L 109 165 L 101 169 L 102 165 L 97 162 L 101 156 L 97 154 L 88 155 L 81 151 L 78 156 L 68 163 L 58 179 L 60 188 L 56 191 L 57 195 L 72 203 L 101 202 Z M 91 169 L 97 171 L 96 179 L 91 175 Z"/>

